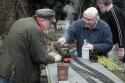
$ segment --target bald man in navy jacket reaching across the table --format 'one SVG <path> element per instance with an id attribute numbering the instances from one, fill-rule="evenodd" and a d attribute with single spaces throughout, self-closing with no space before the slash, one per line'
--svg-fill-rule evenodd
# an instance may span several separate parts
<path id="1" fill-rule="evenodd" d="M 84 45 L 84 40 L 87 44 Z M 95 50 L 98 55 L 107 55 L 112 48 L 112 33 L 109 25 L 99 18 L 95 7 L 87 8 L 83 18 L 73 22 L 65 35 L 58 39 L 61 45 L 76 41 L 77 55 L 81 57 L 82 47 Z"/>

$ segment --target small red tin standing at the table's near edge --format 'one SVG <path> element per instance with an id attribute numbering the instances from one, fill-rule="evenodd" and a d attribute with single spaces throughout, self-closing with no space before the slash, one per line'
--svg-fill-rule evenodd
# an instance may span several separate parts
<path id="1" fill-rule="evenodd" d="M 68 80 L 68 69 L 69 67 L 65 65 L 64 63 L 59 63 L 57 65 L 58 81 Z"/>

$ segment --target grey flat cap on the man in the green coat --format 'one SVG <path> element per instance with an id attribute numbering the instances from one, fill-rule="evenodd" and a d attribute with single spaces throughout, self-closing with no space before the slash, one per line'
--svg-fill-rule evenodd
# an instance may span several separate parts
<path id="1" fill-rule="evenodd" d="M 53 11 L 49 8 L 36 10 L 35 15 L 37 15 L 40 18 L 46 18 L 52 22 L 56 22 L 55 11 Z"/>

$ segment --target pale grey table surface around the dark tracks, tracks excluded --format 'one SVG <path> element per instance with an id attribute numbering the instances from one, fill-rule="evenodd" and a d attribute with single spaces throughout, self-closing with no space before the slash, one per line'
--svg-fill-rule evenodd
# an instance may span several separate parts
<path id="1" fill-rule="evenodd" d="M 114 81 L 114 83 L 124 83 L 120 78 L 118 78 L 112 72 L 108 71 L 105 67 L 103 67 L 99 63 L 92 63 L 89 60 L 82 60 L 81 58 L 79 58 L 79 60 L 82 61 L 84 64 L 90 66 L 91 68 L 93 68 L 93 69 L 103 73 L 105 76 L 107 76 L 108 78 L 112 79 Z M 66 64 L 69 65 L 70 63 L 69 64 L 66 63 Z M 75 61 L 73 61 L 72 64 L 87 70 L 86 68 L 80 66 Z M 58 65 L 58 63 L 48 64 L 47 65 L 46 70 L 47 70 L 48 83 L 58 83 L 57 65 Z M 88 81 L 86 81 L 86 79 L 81 77 L 70 66 L 69 66 L 69 73 L 68 74 L 69 74 L 68 75 L 68 81 L 67 82 L 63 82 L 63 83 L 89 83 Z M 91 78 L 94 79 L 97 83 L 103 83 L 103 82 L 101 82 L 100 80 L 98 80 L 96 78 L 93 78 L 93 77 L 91 77 Z"/>

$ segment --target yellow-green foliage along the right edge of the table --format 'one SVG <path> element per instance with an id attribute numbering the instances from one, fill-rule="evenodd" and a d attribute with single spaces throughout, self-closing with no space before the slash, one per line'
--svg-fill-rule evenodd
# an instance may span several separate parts
<path id="1" fill-rule="evenodd" d="M 98 62 L 125 82 L 125 69 L 121 63 L 104 56 L 99 57 Z"/>

